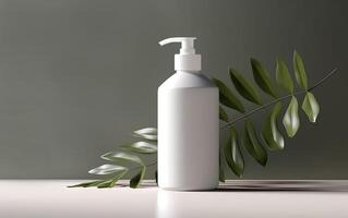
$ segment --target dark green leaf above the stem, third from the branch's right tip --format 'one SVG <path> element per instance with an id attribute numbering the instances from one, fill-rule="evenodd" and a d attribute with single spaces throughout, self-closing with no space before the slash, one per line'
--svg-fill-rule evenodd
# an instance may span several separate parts
<path id="1" fill-rule="evenodd" d="M 255 80 L 256 84 L 266 94 L 276 98 L 277 92 L 273 86 L 268 71 L 256 59 L 251 58 L 250 61 L 251 61 L 251 68 L 252 68 L 254 80 Z"/>

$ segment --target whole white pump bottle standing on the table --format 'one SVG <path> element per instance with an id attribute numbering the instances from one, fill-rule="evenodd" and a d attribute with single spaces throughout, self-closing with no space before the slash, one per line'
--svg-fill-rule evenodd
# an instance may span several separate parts
<path id="1" fill-rule="evenodd" d="M 181 43 L 176 73 L 158 87 L 158 185 L 166 190 L 212 190 L 218 185 L 218 88 L 201 71 L 194 37 Z"/>

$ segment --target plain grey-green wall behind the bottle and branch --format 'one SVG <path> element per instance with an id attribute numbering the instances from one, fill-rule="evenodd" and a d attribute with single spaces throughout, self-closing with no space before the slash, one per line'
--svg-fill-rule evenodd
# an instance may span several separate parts
<path id="1" fill-rule="evenodd" d="M 204 72 L 225 81 L 228 65 L 251 76 L 250 57 L 274 73 L 293 48 L 311 84 L 337 66 L 314 92 L 319 123 L 303 118 L 266 169 L 245 156 L 244 178 L 348 179 L 347 11 L 343 0 L 0 0 L 0 178 L 88 178 L 100 154 L 156 125 L 178 50 L 157 41 L 196 36 Z"/>

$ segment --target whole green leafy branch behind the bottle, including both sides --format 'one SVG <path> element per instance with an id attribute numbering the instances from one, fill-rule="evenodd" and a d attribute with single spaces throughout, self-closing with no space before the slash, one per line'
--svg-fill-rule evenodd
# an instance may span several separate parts
<path id="1" fill-rule="evenodd" d="M 310 122 L 315 122 L 320 112 L 320 106 L 311 93 L 315 87 L 321 85 L 324 81 L 329 78 L 337 69 L 331 71 L 325 77 L 309 87 L 308 76 L 305 73 L 304 64 L 300 55 L 293 52 L 293 71 L 297 84 L 301 90 L 295 92 L 295 85 L 289 73 L 288 66 L 283 60 L 276 60 L 276 84 L 271 78 L 268 71 L 256 59 L 251 59 L 251 66 L 253 72 L 254 82 L 257 84 L 265 94 L 273 98 L 272 101 L 263 104 L 261 93 L 257 92 L 255 86 L 249 82 L 236 69 L 229 69 L 230 80 L 240 96 L 248 101 L 251 101 L 259 107 L 247 112 L 244 105 L 240 97 L 236 95 L 225 83 L 217 78 L 213 82 L 219 88 L 219 119 L 225 122 L 220 126 L 221 130 L 228 130 L 228 140 L 220 146 L 220 169 L 219 179 L 225 182 L 224 160 L 227 162 L 229 169 L 237 175 L 242 177 L 244 172 L 244 158 L 241 152 L 241 145 L 253 157 L 256 162 L 262 166 L 267 164 L 267 147 L 269 150 L 281 150 L 285 147 L 285 137 L 278 126 L 278 119 L 283 109 L 283 101 L 290 99 L 290 102 L 283 117 L 283 125 L 285 132 L 289 137 L 293 137 L 300 126 L 299 118 L 299 104 L 297 97 L 304 95 L 301 108 L 309 118 Z M 287 95 L 278 97 L 278 89 L 283 88 Z M 271 106 L 273 109 L 266 114 L 265 121 L 262 123 L 261 131 L 254 126 L 250 117 L 261 110 Z M 224 108 L 229 108 L 242 113 L 240 117 L 230 120 L 228 113 Z M 245 120 L 243 134 L 238 133 L 235 123 Z M 92 174 L 112 175 L 104 180 L 96 180 L 86 183 L 81 183 L 72 186 L 97 186 L 97 187 L 112 187 L 117 181 L 123 178 L 128 172 L 136 170 L 137 173 L 130 180 L 130 187 L 139 187 L 143 180 L 146 169 L 156 166 L 157 161 L 145 165 L 143 160 L 134 155 L 151 155 L 157 153 L 157 129 L 145 128 L 133 132 L 133 135 L 142 141 L 119 146 L 120 152 L 111 152 L 101 156 L 103 159 L 112 161 L 116 165 L 103 165 L 98 168 L 89 170 Z M 135 167 L 125 167 L 125 164 L 136 165 Z M 157 180 L 157 171 L 156 171 Z"/>

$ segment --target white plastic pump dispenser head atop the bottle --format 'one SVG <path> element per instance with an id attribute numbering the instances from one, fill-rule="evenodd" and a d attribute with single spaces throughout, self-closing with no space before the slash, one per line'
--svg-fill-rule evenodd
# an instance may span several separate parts
<path id="1" fill-rule="evenodd" d="M 173 37 L 159 41 L 160 46 L 181 43 L 180 53 L 175 55 L 176 71 L 201 71 L 201 55 L 196 55 L 194 50 L 195 37 Z"/>

